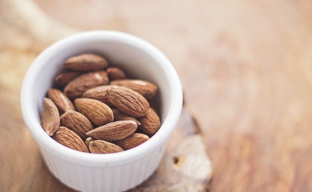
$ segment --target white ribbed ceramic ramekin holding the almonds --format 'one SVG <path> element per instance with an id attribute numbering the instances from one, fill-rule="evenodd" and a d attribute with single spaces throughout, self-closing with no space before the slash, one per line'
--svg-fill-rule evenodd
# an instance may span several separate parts
<path id="1" fill-rule="evenodd" d="M 147 142 L 115 154 L 88 154 L 62 146 L 43 131 L 43 97 L 63 69 L 61 63 L 85 52 L 101 54 L 130 76 L 158 85 L 161 127 Z M 20 100 L 24 122 L 48 169 L 59 181 L 83 192 L 119 192 L 139 185 L 157 168 L 180 115 L 182 91 L 170 61 L 148 42 L 117 31 L 89 31 L 64 38 L 42 51 L 24 77 Z"/>

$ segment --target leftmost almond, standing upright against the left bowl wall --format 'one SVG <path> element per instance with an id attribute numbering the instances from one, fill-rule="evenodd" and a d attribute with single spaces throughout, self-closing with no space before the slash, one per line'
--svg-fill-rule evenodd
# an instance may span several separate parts
<path id="1" fill-rule="evenodd" d="M 49 98 L 43 99 L 41 126 L 47 135 L 51 136 L 59 127 L 59 113 L 56 105 Z"/>

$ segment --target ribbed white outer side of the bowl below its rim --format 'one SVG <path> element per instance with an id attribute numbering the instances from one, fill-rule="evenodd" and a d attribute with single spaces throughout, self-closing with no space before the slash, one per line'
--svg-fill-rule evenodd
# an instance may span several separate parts
<path id="1" fill-rule="evenodd" d="M 143 158 L 118 167 L 79 166 L 41 149 L 50 172 L 63 184 L 81 192 L 121 192 L 146 180 L 158 167 L 164 144 Z"/>

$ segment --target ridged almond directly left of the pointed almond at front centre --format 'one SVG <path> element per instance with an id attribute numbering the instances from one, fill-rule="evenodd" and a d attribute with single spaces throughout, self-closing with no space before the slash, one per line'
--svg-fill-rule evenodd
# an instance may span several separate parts
<path id="1" fill-rule="evenodd" d="M 72 110 L 60 116 L 60 125 L 72 130 L 81 139 L 85 139 L 85 133 L 93 129 L 92 123 L 84 115 Z"/>

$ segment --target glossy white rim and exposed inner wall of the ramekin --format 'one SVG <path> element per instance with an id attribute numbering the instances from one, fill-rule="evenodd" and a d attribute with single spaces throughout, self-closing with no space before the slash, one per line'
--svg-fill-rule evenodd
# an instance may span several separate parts
<path id="1" fill-rule="evenodd" d="M 40 126 L 43 97 L 52 87 L 54 79 L 64 67 L 61 63 L 68 57 L 80 53 L 97 53 L 104 56 L 110 66 L 122 68 L 130 78 L 144 79 L 158 86 L 161 128 L 144 144 L 116 154 L 86 154 L 70 150 L 49 138 Z M 85 159 L 94 156 L 96 161 L 107 158 L 138 158 L 144 151 L 155 149 L 172 132 L 179 117 L 182 94 L 179 79 L 168 59 L 149 43 L 131 35 L 119 32 L 88 32 L 60 40 L 45 49 L 30 66 L 22 85 L 21 107 L 24 121 L 40 147 L 54 151 L 55 155 Z M 69 151 L 69 152 L 68 152 Z M 132 155 L 131 155 L 131 154 Z M 122 155 L 126 154 L 126 155 Z M 136 154 L 136 155 L 134 155 Z M 111 157 L 111 158 L 109 158 Z M 89 158 L 90 159 L 90 158 Z M 135 158 L 134 158 L 135 159 Z M 134 160 L 133 159 L 133 160 Z M 85 159 L 86 160 L 86 159 Z"/>

